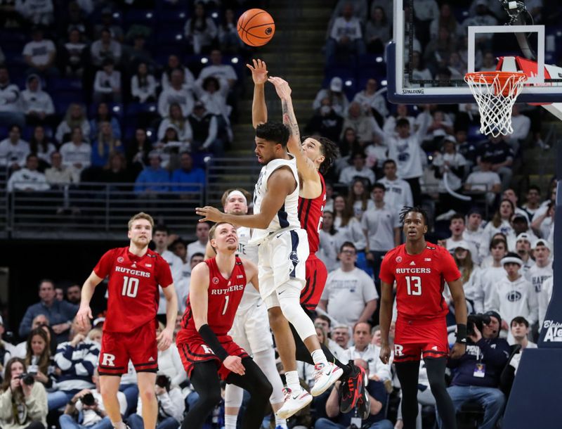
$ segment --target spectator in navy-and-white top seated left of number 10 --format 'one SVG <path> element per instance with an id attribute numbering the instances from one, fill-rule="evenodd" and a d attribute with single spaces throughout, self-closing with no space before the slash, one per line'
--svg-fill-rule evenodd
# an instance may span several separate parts
<path id="1" fill-rule="evenodd" d="M 57 347 L 55 364 L 60 370 L 55 392 L 48 394 L 48 409 L 59 409 L 74 398 L 80 390 L 93 389 L 93 371 L 98 366 L 100 344 L 90 340 L 87 335 L 91 329 L 90 321 L 81 326 L 77 319 L 72 321 L 70 341 Z"/>

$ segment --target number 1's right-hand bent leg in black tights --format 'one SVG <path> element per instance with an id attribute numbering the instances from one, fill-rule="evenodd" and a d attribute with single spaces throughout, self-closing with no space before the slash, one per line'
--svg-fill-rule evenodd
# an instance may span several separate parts
<path id="1" fill-rule="evenodd" d="M 273 388 L 265 374 L 250 357 L 244 357 L 242 365 L 246 369 L 244 376 L 230 373 L 226 378 L 226 383 L 233 383 L 247 390 L 250 394 L 248 408 L 242 421 L 242 429 L 259 429 Z"/>

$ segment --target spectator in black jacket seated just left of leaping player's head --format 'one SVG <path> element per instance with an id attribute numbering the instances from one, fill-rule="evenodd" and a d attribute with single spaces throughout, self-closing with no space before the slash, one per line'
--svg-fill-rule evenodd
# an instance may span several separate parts
<path id="1" fill-rule="evenodd" d="M 188 120 L 193 132 L 192 151 L 209 151 L 220 158 L 224 153 L 224 147 L 223 141 L 218 139 L 216 116 L 207 112 L 201 101 L 197 101 Z"/>

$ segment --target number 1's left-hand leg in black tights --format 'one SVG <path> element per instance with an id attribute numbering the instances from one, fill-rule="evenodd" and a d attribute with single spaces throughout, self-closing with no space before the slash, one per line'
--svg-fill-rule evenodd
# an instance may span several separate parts
<path id="1" fill-rule="evenodd" d="M 181 423 L 181 429 L 201 429 L 216 404 L 221 402 L 221 382 L 216 361 L 198 362 L 191 371 L 190 382 L 199 399 Z"/>

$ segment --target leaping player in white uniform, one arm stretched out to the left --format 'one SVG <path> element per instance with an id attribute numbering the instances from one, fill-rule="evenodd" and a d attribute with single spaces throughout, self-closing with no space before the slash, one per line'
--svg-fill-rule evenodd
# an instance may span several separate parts
<path id="1" fill-rule="evenodd" d="M 262 88 L 263 90 L 263 88 Z M 270 317 L 291 322 L 313 357 L 316 366 L 313 396 L 325 392 L 339 377 L 341 369 L 329 363 L 320 348 L 313 321 L 300 305 L 305 286 L 308 238 L 297 215 L 299 174 L 294 156 L 287 153 L 289 129 L 279 122 L 256 127 L 258 161 L 263 164 L 254 190 L 254 214 L 225 214 L 214 207 L 197 207 L 200 222 L 232 222 L 254 229 L 251 243 L 259 244 L 260 294 Z M 312 401 L 301 388 L 296 371 L 295 344 L 288 323 L 276 324 L 273 334 L 285 369 L 285 404 L 277 416 L 288 418 Z"/>

